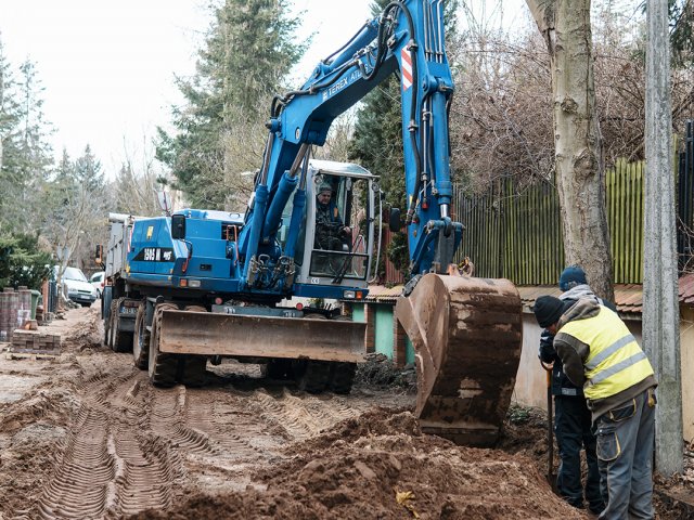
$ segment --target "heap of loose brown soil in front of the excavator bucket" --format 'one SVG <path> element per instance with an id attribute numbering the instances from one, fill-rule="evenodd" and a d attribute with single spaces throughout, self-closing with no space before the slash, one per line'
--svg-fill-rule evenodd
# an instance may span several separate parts
<path id="1" fill-rule="evenodd" d="M 245 492 L 131 518 L 588 518 L 552 494 L 529 458 L 422 434 L 409 412 L 369 412 L 287 453 Z"/>

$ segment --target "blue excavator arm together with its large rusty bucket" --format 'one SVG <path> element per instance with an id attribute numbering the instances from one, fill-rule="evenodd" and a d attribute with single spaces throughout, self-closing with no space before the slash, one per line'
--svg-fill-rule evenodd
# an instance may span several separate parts
<path id="1" fill-rule="evenodd" d="M 444 2 L 388 3 L 298 90 L 275 96 L 255 196 L 240 236 L 241 286 L 258 287 L 258 257 L 293 265 L 311 146 L 339 114 L 396 73 L 412 280 L 396 314 L 417 363 L 416 414 L 425 431 L 457 442 L 496 441 L 510 404 L 522 342 L 520 299 L 505 280 L 463 277 L 452 265 L 463 225 L 451 218 L 448 113 L 453 81 Z M 293 197 L 284 250 L 274 236 Z"/>

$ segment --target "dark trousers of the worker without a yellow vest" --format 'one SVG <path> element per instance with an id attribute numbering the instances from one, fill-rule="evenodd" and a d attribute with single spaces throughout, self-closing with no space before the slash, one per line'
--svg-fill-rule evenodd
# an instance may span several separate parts
<path id="1" fill-rule="evenodd" d="M 586 502 L 591 511 L 599 514 L 605 505 L 600 491 L 595 435 L 591 430 L 591 415 L 586 400 L 582 395 L 556 395 L 554 413 L 554 433 L 560 448 L 557 492 L 571 506 L 583 507 L 581 448 L 584 447 L 588 463 Z"/>

